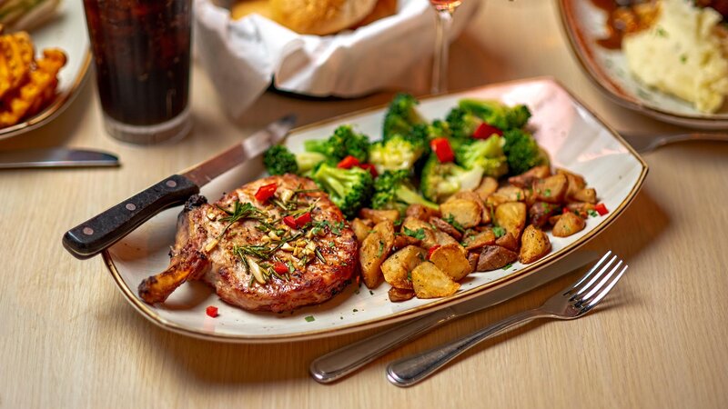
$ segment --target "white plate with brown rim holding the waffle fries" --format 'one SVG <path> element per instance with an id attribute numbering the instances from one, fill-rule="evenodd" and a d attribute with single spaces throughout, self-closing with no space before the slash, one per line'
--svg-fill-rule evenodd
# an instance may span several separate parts
<path id="1" fill-rule="evenodd" d="M 0 128 L 0 140 L 25 134 L 45 125 L 66 109 L 76 90 L 83 83 L 91 64 L 91 48 L 86 29 L 84 4 L 78 0 L 65 0 L 50 21 L 30 32 L 35 44 L 35 56 L 44 48 L 57 47 L 66 52 L 67 62 L 58 73 L 56 99 L 37 115 L 16 125 Z"/>

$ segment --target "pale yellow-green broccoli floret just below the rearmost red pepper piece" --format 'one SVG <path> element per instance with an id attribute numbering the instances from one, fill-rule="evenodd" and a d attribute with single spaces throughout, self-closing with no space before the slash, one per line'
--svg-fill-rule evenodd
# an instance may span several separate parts
<path id="1" fill-rule="evenodd" d="M 505 139 L 492 135 L 488 139 L 471 139 L 455 151 L 455 161 L 466 169 L 479 166 L 483 175 L 499 178 L 508 173 L 508 162 L 503 155 Z"/>

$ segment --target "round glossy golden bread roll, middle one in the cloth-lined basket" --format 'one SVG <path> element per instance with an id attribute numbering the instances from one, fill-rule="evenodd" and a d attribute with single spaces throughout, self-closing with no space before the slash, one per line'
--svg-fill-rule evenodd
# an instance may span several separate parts
<path id="1" fill-rule="evenodd" d="M 359 23 L 377 0 L 270 0 L 273 19 L 293 31 L 329 35 Z"/>

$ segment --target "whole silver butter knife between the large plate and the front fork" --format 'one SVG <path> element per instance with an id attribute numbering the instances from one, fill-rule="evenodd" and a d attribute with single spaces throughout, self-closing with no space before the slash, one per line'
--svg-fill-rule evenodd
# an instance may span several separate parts
<path id="1" fill-rule="evenodd" d="M 329 354 L 314 359 L 308 367 L 311 376 L 320 384 L 330 384 L 369 364 L 383 354 L 397 348 L 434 329 L 440 324 L 450 322 L 467 314 L 475 313 L 495 304 L 501 304 L 536 287 L 555 280 L 599 257 L 597 252 L 579 251 L 568 254 L 512 284 L 483 294 L 473 299 L 454 304 L 434 313 L 413 318 L 404 324 L 395 324 L 389 330 L 364 338 L 354 344 L 340 347 Z"/>

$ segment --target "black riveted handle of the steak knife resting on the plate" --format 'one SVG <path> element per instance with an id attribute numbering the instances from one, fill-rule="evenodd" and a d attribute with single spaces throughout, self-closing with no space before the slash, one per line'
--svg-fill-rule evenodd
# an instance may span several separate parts
<path id="1" fill-rule="evenodd" d="M 182 205 L 189 196 L 198 193 L 199 186 L 185 176 L 172 175 L 67 231 L 63 246 L 81 260 L 92 257 L 155 214 L 167 207 Z"/>

